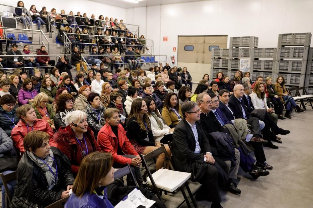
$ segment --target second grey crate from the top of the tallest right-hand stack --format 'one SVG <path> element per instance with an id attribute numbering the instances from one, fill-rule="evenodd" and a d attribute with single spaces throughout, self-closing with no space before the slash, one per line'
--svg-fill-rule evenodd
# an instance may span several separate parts
<path id="1" fill-rule="evenodd" d="M 309 47 L 280 47 L 277 48 L 277 60 L 280 59 L 308 59 Z"/>

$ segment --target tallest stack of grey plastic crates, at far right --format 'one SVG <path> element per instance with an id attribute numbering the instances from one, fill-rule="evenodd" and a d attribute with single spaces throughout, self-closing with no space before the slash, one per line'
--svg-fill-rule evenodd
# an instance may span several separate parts
<path id="1" fill-rule="evenodd" d="M 311 33 L 279 34 L 274 82 L 283 76 L 286 86 L 305 85 L 310 43 Z"/>

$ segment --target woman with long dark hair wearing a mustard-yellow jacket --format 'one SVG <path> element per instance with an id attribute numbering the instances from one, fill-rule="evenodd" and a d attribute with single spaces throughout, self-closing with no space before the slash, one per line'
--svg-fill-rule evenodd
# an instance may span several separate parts
<path id="1" fill-rule="evenodd" d="M 178 103 L 177 94 L 167 94 L 162 109 L 162 117 L 170 128 L 174 128 L 182 120 L 182 106 Z"/>

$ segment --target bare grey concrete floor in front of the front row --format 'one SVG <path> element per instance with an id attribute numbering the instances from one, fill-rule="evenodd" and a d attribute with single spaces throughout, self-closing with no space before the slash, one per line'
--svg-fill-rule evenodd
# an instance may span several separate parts
<path id="1" fill-rule="evenodd" d="M 310 109 L 309 109 L 310 108 Z M 273 166 L 266 177 L 253 180 L 239 169 L 238 188 L 241 195 L 220 191 L 222 206 L 233 208 L 251 207 L 313 207 L 313 110 L 307 107 L 303 113 L 292 113 L 292 119 L 279 120 L 278 126 L 290 130 L 280 136 L 283 143 L 275 143 L 279 149 L 264 147 L 267 163 Z M 193 191 L 197 183 L 190 183 Z M 163 196 L 165 204 L 177 207 L 183 200 L 182 194 Z M 199 201 L 198 207 L 210 207 L 211 202 Z M 182 207 L 187 207 L 186 203 Z"/>

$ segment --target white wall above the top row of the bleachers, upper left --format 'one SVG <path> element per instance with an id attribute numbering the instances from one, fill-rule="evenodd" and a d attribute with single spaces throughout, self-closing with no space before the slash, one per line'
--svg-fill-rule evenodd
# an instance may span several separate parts
<path id="1" fill-rule="evenodd" d="M 17 0 L 1 0 L 2 4 L 7 5 L 17 5 Z M 87 14 L 87 17 L 91 17 L 92 14 L 95 15 L 96 18 L 99 17 L 99 15 L 103 15 L 104 17 L 113 17 L 117 18 L 118 20 L 123 19 L 124 22 L 126 18 L 126 9 L 121 7 L 114 7 L 107 4 L 102 4 L 99 2 L 92 2 L 88 0 L 51 0 L 51 1 L 34 1 L 34 0 L 23 0 L 24 7 L 29 10 L 31 5 L 35 5 L 36 9 L 38 11 L 41 10 L 42 7 L 46 7 L 47 11 L 51 11 L 52 8 L 55 8 L 58 13 L 61 12 L 61 9 L 65 10 L 65 14 L 69 14 L 70 11 L 74 13 L 74 15 L 77 14 L 77 12 L 80 12 L 81 15 L 83 13 Z M 14 11 L 13 7 L 4 7 L 0 6 L 0 11 Z M 127 23 L 127 22 L 126 22 Z"/>

